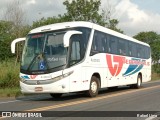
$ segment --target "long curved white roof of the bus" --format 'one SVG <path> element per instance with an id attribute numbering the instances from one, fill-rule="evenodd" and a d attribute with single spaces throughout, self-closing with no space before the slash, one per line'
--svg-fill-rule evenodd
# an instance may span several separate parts
<path id="1" fill-rule="evenodd" d="M 50 25 L 45 25 L 42 27 L 35 28 L 29 32 L 29 34 L 34 34 L 34 33 L 40 33 L 40 32 L 45 32 L 45 31 L 52 31 L 52 30 L 60 30 L 60 29 L 65 29 L 65 28 L 73 28 L 73 27 L 87 27 L 87 28 L 93 28 L 95 30 L 120 37 L 122 39 L 126 39 L 129 41 L 133 41 L 136 43 L 140 43 L 146 46 L 149 46 L 147 43 L 141 42 L 139 40 L 136 40 L 132 37 L 129 37 L 127 35 L 121 34 L 119 32 L 113 31 L 111 29 L 102 27 L 100 25 L 91 23 L 91 22 L 85 22 L 85 21 L 74 21 L 74 22 L 63 22 L 63 23 L 55 23 L 55 24 L 50 24 Z"/>

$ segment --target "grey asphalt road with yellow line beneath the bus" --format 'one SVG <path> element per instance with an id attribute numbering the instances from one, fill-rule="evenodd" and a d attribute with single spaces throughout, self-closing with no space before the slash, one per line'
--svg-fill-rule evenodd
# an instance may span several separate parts
<path id="1" fill-rule="evenodd" d="M 54 99 L 48 94 L 0 98 L 0 113 L 6 111 L 12 113 L 19 111 L 20 117 L 24 111 L 24 116 L 26 114 L 28 116 L 27 111 L 31 114 L 34 112 L 37 116 L 42 116 L 34 118 L 37 120 L 53 118 L 97 120 L 97 117 L 98 119 L 107 117 L 107 120 L 158 120 L 160 118 L 155 114 L 160 112 L 160 81 L 145 83 L 141 89 L 129 87 L 120 87 L 116 90 L 104 89 L 95 98 L 73 93 L 64 95 L 60 99 Z M 47 115 L 50 117 L 44 117 Z M 3 117 L 3 119 L 9 118 Z"/>

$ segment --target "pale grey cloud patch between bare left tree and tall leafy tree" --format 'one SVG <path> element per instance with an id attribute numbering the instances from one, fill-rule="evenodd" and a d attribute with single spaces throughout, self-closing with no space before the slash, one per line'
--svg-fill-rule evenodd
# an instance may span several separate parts
<path id="1" fill-rule="evenodd" d="M 45 2 L 44 0 L 28 0 L 28 4 L 24 7 L 30 24 L 42 17 L 53 17 L 66 12 L 63 0 L 45 0 Z"/>

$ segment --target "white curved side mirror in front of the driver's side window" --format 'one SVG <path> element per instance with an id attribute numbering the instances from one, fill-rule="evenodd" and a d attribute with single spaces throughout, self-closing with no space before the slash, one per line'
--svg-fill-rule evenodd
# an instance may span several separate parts
<path id="1" fill-rule="evenodd" d="M 69 40 L 70 40 L 70 37 L 74 34 L 82 34 L 82 32 L 80 31 L 76 31 L 76 30 L 70 30 L 68 32 L 66 32 L 64 34 L 64 37 L 63 37 L 63 43 L 64 43 L 64 47 L 68 47 L 69 46 Z"/>

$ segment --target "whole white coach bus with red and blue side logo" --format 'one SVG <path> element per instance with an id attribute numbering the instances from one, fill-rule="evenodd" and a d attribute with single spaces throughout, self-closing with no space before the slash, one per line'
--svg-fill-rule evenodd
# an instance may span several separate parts
<path id="1" fill-rule="evenodd" d="M 85 91 L 151 80 L 151 52 L 146 43 L 90 22 L 64 22 L 33 29 L 25 40 L 20 67 L 22 93 Z"/>

